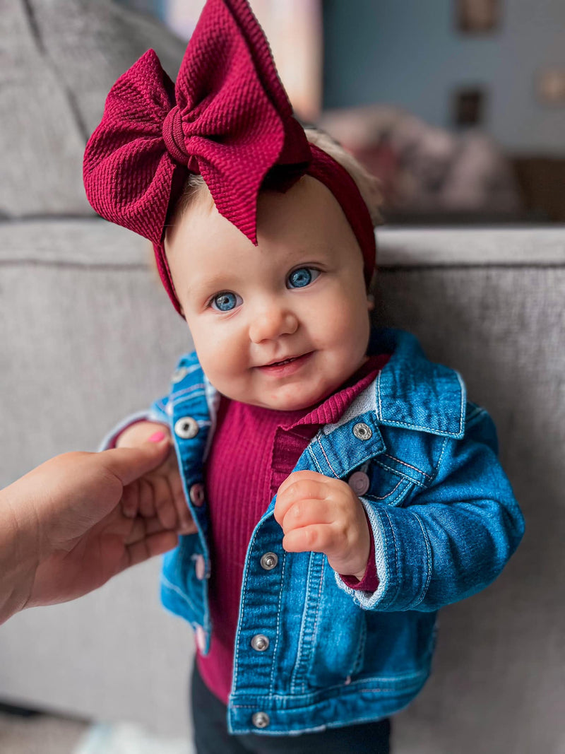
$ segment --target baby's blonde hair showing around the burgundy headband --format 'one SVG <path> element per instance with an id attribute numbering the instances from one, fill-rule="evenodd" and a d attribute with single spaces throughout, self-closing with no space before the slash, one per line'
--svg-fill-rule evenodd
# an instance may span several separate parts
<path id="1" fill-rule="evenodd" d="M 380 214 L 380 207 L 383 204 L 383 195 L 380 191 L 379 179 L 371 175 L 365 167 L 357 160 L 350 152 L 347 152 L 340 143 L 335 141 L 318 128 L 306 128 L 306 137 L 311 144 L 323 149 L 330 157 L 334 158 L 336 162 L 341 164 L 345 170 L 350 174 L 353 180 L 356 182 L 359 193 L 362 196 L 363 201 L 367 205 L 369 214 L 371 215 L 371 222 L 373 227 L 380 225 L 383 222 L 383 218 Z M 191 204 L 203 187 L 206 186 L 202 176 L 194 175 L 191 173 L 185 182 L 182 195 L 176 203 L 176 207 L 173 210 L 170 225 L 173 225 L 176 219 L 182 217 L 187 207 Z"/>

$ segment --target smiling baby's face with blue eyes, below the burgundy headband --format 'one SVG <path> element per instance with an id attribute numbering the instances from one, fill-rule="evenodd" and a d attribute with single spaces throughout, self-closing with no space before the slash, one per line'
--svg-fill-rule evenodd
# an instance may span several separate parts
<path id="1" fill-rule="evenodd" d="M 365 361 L 362 253 L 316 179 L 304 176 L 286 194 L 261 193 L 257 247 L 202 189 L 169 228 L 165 248 L 200 363 L 220 393 L 302 409 Z"/>

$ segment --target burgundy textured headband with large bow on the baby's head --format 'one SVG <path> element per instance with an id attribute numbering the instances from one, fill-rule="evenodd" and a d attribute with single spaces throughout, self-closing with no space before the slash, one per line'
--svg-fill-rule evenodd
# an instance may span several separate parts
<path id="1" fill-rule="evenodd" d="M 111 87 L 84 152 L 88 201 L 153 243 L 177 311 L 163 242 L 189 173 L 203 177 L 218 212 L 255 245 L 264 180 L 286 190 L 305 173 L 313 176 L 344 210 L 370 280 L 375 242 L 365 202 L 347 170 L 310 145 L 293 118 L 247 0 L 207 0 L 176 84 L 153 50 L 142 55 Z"/>

